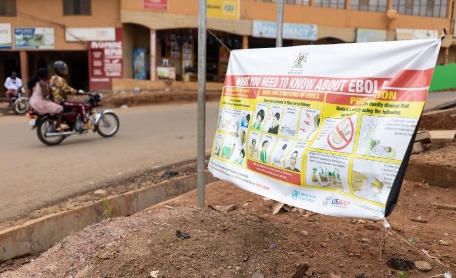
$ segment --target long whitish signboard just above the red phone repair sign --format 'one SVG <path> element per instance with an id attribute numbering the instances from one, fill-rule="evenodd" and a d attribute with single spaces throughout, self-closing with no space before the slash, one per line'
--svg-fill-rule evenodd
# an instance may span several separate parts
<path id="1" fill-rule="evenodd" d="M 116 40 L 116 28 L 66 28 L 66 41 L 113 41 Z"/>

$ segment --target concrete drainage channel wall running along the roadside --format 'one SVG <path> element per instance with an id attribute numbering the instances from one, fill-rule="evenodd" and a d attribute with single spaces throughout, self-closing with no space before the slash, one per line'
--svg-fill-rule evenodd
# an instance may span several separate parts
<path id="1" fill-rule="evenodd" d="M 206 184 L 218 179 L 206 172 Z M 112 217 L 133 215 L 143 209 L 196 189 L 197 174 L 157 183 L 153 187 L 130 191 L 107 198 L 115 208 Z M 0 258 L 10 260 L 45 252 L 63 240 L 71 231 L 103 220 L 102 201 L 81 208 L 54 213 L 0 231 Z"/>

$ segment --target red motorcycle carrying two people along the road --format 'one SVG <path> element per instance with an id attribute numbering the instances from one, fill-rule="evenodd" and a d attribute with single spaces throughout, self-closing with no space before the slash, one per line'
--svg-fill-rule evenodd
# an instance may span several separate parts
<path id="1" fill-rule="evenodd" d="M 48 146 L 60 144 L 66 137 L 72 134 L 83 135 L 90 131 L 98 132 L 103 137 L 114 136 L 119 130 L 119 118 L 112 110 L 100 110 L 103 95 L 99 92 L 84 92 L 80 94 L 87 95 L 88 100 L 84 101 L 87 118 L 95 129 L 84 129 L 84 122 L 77 108 L 64 110 L 62 115 L 62 123 L 69 126 L 68 129 L 58 131 L 56 128 L 57 115 L 39 115 L 35 111 L 30 111 L 27 117 L 30 119 L 29 125 L 31 130 L 36 128 L 36 135 L 40 141 Z"/>

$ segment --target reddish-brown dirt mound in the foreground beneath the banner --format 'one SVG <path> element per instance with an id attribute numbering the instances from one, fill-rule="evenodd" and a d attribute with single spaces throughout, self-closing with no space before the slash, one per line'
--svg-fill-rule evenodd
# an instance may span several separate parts
<path id="1" fill-rule="evenodd" d="M 382 221 L 287 206 L 272 215 L 272 200 L 219 181 L 206 187 L 206 205 L 234 210 L 195 208 L 193 191 L 86 227 L 5 277 L 292 277 L 306 263 L 307 277 L 399 277 L 391 258 L 431 264 L 411 277 L 456 273 L 456 212 L 431 205 L 448 196 L 454 190 L 405 181 L 386 236 Z"/>

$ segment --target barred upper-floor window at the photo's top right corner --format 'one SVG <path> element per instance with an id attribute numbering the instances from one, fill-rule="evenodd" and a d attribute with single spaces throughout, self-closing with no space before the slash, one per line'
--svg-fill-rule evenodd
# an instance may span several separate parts
<path id="1" fill-rule="evenodd" d="M 447 2 L 442 0 L 393 0 L 399 14 L 446 18 Z"/>

